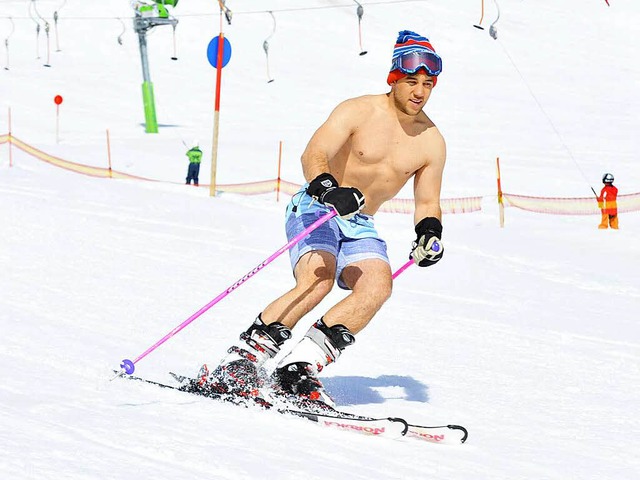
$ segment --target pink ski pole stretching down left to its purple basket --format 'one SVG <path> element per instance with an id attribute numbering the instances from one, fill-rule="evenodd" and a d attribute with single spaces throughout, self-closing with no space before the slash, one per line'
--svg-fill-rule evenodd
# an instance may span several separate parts
<path id="1" fill-rule="evenodd" d="M 264 267 L 266 267 L 267 265 L 269 265 L 273 260 L 275 260 L 277 257 L 279 257 L 281 254 L 283 254 L 284 252 L 286 252 L 287 250 L 289 250 L 291 247 L 293 247 L 296 243 L 298 243 L 300 240 L 302 240 L 304 237 L 306 237 L 307 235 L 309 235 L 309 233 L 311 233 L 313 230 L 315 230 L 316 228 L 318 228 L 320 225 L 322 225 L 323 223 L 325 223 L 327 220 L 335 217 L 337 215 L 337 212 L 335 210 L 332 210 L 331 212 L 327 213 L 326 215 L 320 217 L 318 220 L 316 220 L 315 222 L 313 222 L 311 225 L 309 225 L 307 228 L 304 229 L 303 232 L 301 232 L 300 234 L 296 235 L 295 237 L 293 237 L 286 245 L 283 245 L 282 247 L 280 247 L 273 255 L 271 255 L 269 258 L 267 258 L 265 261 L 263 261 L 262 263 L 260 263 L 257 267 L 255 267 L 254 269 L 252 269 L 251 271 L 249 271 L 249 273 L 247 273 L 244 277 L 242 277 L 240 280 L 238 280 L 237 282 L 235 282 L 233 285 L 231 285 L 229 288 L 227 288 L 224 292 L 222 292 L 220 295 L 218 295 L 216 298 L 214 298 L 213 300 L 211 300 L 209 303 L 207 303 L 204 307 L 202 307 L 200 310 L 198 310 L 196 313 L 194 313 L 193 315 L 191 315 L 189 318 L 187 318 L 184 322 L 182 322 L 180 325 L 178 325 L 177 327 L 175 327 L 173 330 L 171 330 L 169 333 L 167 333 L 164 337 L 162 337 L 160 340 L 158 340 L 156 343 L 154 343 L 152 346 L 150 346 L 149 348 L 147 348 L 143 353 L 141 353 L 140 355 L 138 355 L 138 357 L 135 360 L 129 360 L 129 359 L 124 359 L 122 360 L 122 363 L 120 364 L 120 368 L 122 369 L 114 378 L 119 377 L 120 375 L 122 375 L 123 373 L 126 373 L 128 375 L 131 375 L 134 370 L 135 370 L 135 365 L 136 363 L 138 363 L 140 360 L 142 360 L 144 357 L 146 357 L 147 355 L 149 355 L 151 352 L 153 352 L 156 348 L 158 348 L 160 345 L 162 345 L 164 342 L 166 342 L 167 340 L 169 340 L 171 337 L 173 337 L 174 335 L 176 335 L 178 332 L 180 332 L 182 329 L 184 329 L 187 325 L 189 325 L 191 322 L 193 322 L 195 319 L 197 319 L 200 315 L 202 315 L 204 312 L 206 312 L 207 310 L 209 310 L 211 307 L 213 307 L 216 303 L 218 303 L 220 300 L 222 300 L 224 297 L 226 297 L 227 295 L 229 295 L 231 292 L 233 292 L 236 288 L 238 288 L 240 285 L 242 285 L 243 283 L 245 283 L 247 280 L 249 280 L 251 277 L 253 277 L 256 273 L 258 273 L 260 270 L 262 270 Z M 403 267 L 404 268 L 404 267 Z"/>

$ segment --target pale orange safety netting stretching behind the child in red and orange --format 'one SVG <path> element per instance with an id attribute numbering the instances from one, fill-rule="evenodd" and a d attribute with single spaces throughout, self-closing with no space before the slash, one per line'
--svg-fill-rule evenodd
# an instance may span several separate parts
<path id="1" fill-rule="evenodd" d="M 593 197 L 553 198 L 530 197 L 503 193 L 506 205 L 537 213 L 553 215 L 595 215 L 600 214 L 598 200 Z M 640 193 L 618 195 L 618 212 L 635 212 L 640 210 Z"/>

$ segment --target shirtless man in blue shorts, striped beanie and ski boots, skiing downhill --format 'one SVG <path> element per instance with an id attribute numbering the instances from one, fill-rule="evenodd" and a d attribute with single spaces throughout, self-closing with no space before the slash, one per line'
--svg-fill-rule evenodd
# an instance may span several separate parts
<path id="1" fill-rule="evenodd" d="M 308 183 L 286 212 L 289 239 L 325 215 L 337 216 L 290 250 L 295 286 L 267 305 L 212 372 L 204 365 L 202 389 L 257 395 L 261 365 L 291 338 L 291 329 L 331 291 L 350 290 L 285 356 L 271 376 L 287 396 L 331 404 L 317 378 L 355 342 L 355 335 L 391 295 L 391 268 L 373 215 L 413 177 L 416 238 L 411 258 L 421 267 L 444 253 L 440 188 L 445 142 L 423 108 L 442 70 L 429 40 L 400 32 L 387 78 L 391 91 L 339 104 L 302 154 Z"/>

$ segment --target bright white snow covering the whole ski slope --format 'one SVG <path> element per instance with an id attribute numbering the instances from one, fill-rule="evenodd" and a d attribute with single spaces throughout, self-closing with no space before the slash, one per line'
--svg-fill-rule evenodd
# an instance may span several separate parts
<path id="1" fill-rule="evenodd" d="M 483 211 L 444 218 L 446 255 L 412 267 L 357 344 L 327 369 L 341 408 L 469 429 L 462 446 L 383 440 L 109 381 L 285 242 L 287 198 L 210 198 L 180 183 L 182 141 L 210 175 L 215 71 L 206 46 L 217 3 L 180 2 L 149 35 L 160 133 L 144 133 L 137 38 L 128 2 L 4 0 L 0 133 L 50 154 L 160 183 L 98 179 L 0 145 L 0 478 L 6 479 L 636 479 L 640 478 L 640 216 L 599 231 L 596 216 L 514 208 L 499 228 L 495 158 L 505 191 L 589 196 L 605 171 L 640 191 L 640 3 L 501 0 L 227 1 L 233 56 L 220 113 L 219 183 L 301 183 L 299 155 L 331 109 L 386 91 L 399 30 L 427 35 L 444 72 L 427 105 L 448 144 L 443 197 L 485 196 Z M 183 4 L 184 3 L 184 4 Z M 312 8 L 317 7 L 317 8 Z M 306 8 L 306 9 L 305 9 Z M 59 52 L 53 12 L 59 9 Z M 267 83 L 262 42 L 269 40 Z M 123 19 L 121 23 L 117 18 Z M 119 45 L 117 37 L 122 37 Z M 36 55 L 39 53 L 39 59 Z M 5 50 L 6 54 L 6 50 Z M 5 57 L 1 57 L 3 61 Z M 53 97 L 60 94 L 59 141 Z M 400 196 L 410 197 L 410 189 Z M 380 214 L 393 266 L 410 215 Z M 137 365 L 162 379 L 215 363 L 292 285 L 286 255 Z M 308 327 L 336 291 L 303 319 Z M 635 445 L 635 446 L 634 446 Z"/>

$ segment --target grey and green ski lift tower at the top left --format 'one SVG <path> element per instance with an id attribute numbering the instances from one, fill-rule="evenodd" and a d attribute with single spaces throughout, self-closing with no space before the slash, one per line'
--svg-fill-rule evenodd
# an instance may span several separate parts
<path id="1" fill-rule="evenodd" d="M 144 102 L 145 131 L 158 133 L 158 120 L 156 119 L 156 105 L 153 97 L 153 83 L 149 73 L 149 58 L 147 56 L 147 32 L 160 25 L 171 25 L 175 29 L 178 24 L 176 18 L 169 16 L 167 5 L 175 7 L 178 0 L 153 0 L 155 4 L 144 2 L 132 2 L 135 17 L 133 27 L 138 34 L 140 42 L 140 59 L 142 60 L 142 100 Z"/>

